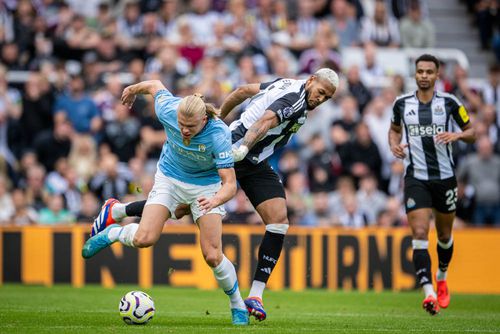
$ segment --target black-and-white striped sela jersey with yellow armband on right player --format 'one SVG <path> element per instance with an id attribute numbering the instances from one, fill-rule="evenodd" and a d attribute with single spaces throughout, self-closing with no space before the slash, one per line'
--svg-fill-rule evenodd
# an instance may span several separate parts
<path id="1" fill-rule="evenodd" d="M 435 136 L 469 123 L 462 103 L 452 94 L 435 92 L 429 103 L 421 103 L 416 92 L 394 101 L 392 123 L 404 127 L 408 153 L 405 175 L 419 180 L 443 180 L 455 175 L 451 144 L 438 144 Z"/>

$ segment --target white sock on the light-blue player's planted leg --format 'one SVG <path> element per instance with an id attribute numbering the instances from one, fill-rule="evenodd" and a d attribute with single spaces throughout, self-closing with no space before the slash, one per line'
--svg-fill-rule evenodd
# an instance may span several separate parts
<path id="1" fill-rule="evenodd" d="M 217 283 L 224 290 L 224 293 L 228 295 L 231 308 L 246 309 L 238 287 L 236 270 L 231 261 L 225 255 L 222 255 L 221 263 L 212 270 Z"/>

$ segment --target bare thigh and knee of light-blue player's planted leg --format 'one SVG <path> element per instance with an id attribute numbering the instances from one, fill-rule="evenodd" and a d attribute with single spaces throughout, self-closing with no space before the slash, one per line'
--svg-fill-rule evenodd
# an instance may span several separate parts
<path id="1" fill-rule="evenodd" d="M 200 229 L 200 247 L 208 265 L 217 266 L 222 260 L 222 216 L 209 213 L 197 220 Z"/>

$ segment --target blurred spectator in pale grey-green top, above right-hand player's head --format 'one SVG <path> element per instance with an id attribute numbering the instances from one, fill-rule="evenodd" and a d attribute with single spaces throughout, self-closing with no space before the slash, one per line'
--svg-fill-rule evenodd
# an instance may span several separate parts
<path id="1" fill-rule="evenodd" d="M 408 14 L 400 21 L 401 46 L 404 48 L 432 48 L 436 33 L 434 25 L 422 18 L 419 0 L 411 0 Z"/>

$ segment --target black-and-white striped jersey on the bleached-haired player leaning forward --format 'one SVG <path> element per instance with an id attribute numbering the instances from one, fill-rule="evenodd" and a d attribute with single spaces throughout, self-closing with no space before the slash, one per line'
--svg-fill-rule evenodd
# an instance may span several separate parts
<path id="1" fill-rule="evenodd" d="M 270 157 L 274 151 L 288 143 L 307 118 L 306 80 L 277 79 L 262 83 L 260 92 L 250 100 L 240 118 L 231 123 L 233 144 L 239 146 L 245 133 L 259 120 L 266 110 L 278 116 L 278 126 L 270 129 L 245 157 L 258 164 Z"/>

